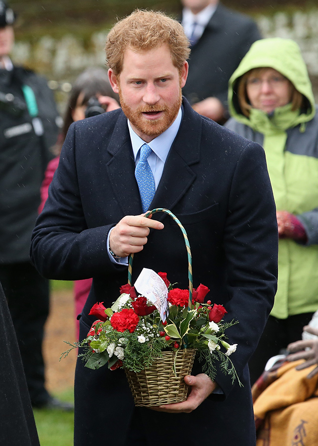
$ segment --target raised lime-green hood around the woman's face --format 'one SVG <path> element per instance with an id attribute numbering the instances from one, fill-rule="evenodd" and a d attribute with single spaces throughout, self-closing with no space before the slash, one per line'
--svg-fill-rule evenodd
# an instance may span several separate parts
<path id="1" fill-rule="evenodd" d="M 300 48 L 293 40 L 278 37 L 254 42 L 231 76 L 229 81 L 229 110 L 231 115 L 239 122 L 251 126 L 250 120 L 242 114 L 239 107 L 237 87 L 243 74 L 253 68 L 261 67 L 277 70 L 307 98 L 305 109 L 301 110 L 293 124 L 302 124 L 313 119 L 316 112 L 315 99 Z"/>

